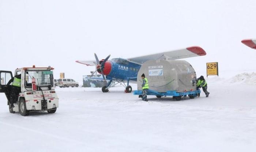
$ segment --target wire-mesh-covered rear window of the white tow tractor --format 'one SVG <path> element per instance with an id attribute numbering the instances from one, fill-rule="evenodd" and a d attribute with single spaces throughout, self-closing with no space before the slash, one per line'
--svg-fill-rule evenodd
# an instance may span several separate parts
<path id="1" fill-rule="evenodd" d="M 26 71 L 25 80 L 26 87 L 31 87 L 32 80 L 35 79 L 37 86 L 53 86 L 53 72 L 42 71 Z"/>

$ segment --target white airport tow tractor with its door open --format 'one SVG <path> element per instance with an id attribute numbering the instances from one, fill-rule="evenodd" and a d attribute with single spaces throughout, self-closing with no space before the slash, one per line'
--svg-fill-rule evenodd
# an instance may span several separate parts
<path id="1" fill-rule="evenodd" d="M 21 74 L 21 90 L 15 96 L 14 108 L 10 109 L 10 95 L 12 86 L 6 84 L 12 78 L 11 71 L 0 71 L 0 92 L 7 97 L 10 113 L 19 112 L 29 115 L 30 111 L 47 111 L 55 113 L 59 107 L 59 98 L 54 90 L 52 67 L 17 68 L 14 75 Z"/>

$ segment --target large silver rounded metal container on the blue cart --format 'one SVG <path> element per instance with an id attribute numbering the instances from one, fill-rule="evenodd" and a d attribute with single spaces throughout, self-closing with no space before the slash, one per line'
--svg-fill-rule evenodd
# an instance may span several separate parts
<path id="1" fill-rule="evenodd" d="M 196 90 L 196 72 L 183 60 L 146 61 L 138 72 L 138 90 L 142 90 L 141 75 L 148 79 L 149 89 L 158 92 Z"/>

